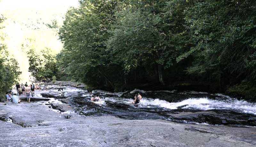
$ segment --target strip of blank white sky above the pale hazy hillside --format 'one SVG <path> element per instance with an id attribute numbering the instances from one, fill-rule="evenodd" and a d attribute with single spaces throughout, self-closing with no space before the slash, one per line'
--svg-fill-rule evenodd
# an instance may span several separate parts
<path id="1" fill-rule="evenodd" d="M 0 11 L 18 8 L 52 8 L 78 6 L 78 0 L 0 0 Z"/>

